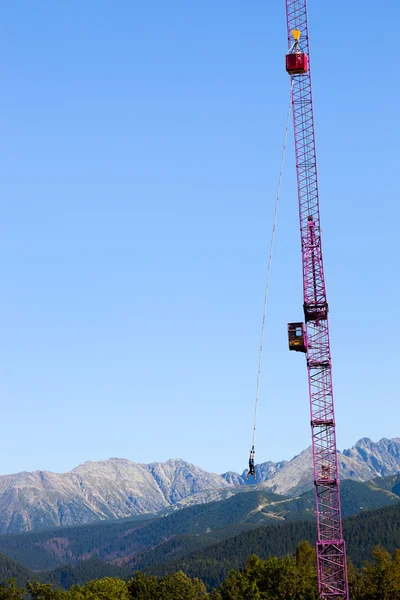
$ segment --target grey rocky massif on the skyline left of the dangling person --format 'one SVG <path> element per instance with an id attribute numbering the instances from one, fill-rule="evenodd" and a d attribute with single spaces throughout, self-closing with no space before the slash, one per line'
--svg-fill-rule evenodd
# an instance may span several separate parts
<path id="1" fill-rule="evenodd" d="M 0 533 L 154 513 L 203 490 L 229 487 L 183 460 L 142 465 L 111 458 L 69 473 L 0 476 Z"/>

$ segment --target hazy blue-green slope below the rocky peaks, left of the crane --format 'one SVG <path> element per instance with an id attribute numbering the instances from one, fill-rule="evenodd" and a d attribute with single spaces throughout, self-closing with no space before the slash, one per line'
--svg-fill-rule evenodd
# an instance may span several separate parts
<path id="1" fill-rule="evenodd" d="M 3 535 L 0 552 L 33 570 L 54 569 L 91 557 L 128 564 L 138 552 L 153 549 L 177 535 L 209 535 L 227 526 L 240 528 L 246 523 L 279 521 L 290 512 L 297 517 L 303 509 L 306 516 L 310 500 L 298 502 L 282 502 L 282 496 L 266 491 L 237 494 L 223 502 L 193 506 L 150 521 L 123 520 Z"/>

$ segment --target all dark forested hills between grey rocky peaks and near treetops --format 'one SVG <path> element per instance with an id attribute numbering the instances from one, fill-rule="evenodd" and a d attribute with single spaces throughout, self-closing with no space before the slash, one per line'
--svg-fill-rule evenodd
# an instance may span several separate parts
<path id="1" fill-rule="evenodd" d="M 103 576 L 128 578 L 137 570 L 161 576 L 182 569 L 212 587 L 253 553 L 282 556 L 302 540 L 315 541 L 313 490 L 283 497 L 251 486 L 236 489 L 227 500 L 167 516 L 2 535 L 0 575 L 69 587 Z M 398 493 L 399 475 L 342 482 L 344 530 L 357 566 L 378 543 L 400 546 Z"/>

